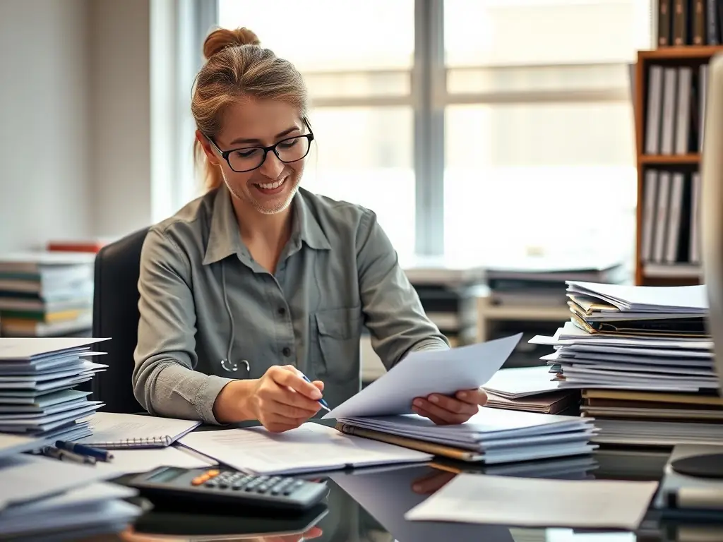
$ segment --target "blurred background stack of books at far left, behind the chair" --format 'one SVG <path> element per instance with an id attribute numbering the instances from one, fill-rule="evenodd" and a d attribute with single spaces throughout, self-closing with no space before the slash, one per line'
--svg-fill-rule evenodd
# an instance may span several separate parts
<path id="1" fill-rule="evenodd" d="M 39 251 L 0 257 L 0 336 L 87 334 L 95 254 Z"/>

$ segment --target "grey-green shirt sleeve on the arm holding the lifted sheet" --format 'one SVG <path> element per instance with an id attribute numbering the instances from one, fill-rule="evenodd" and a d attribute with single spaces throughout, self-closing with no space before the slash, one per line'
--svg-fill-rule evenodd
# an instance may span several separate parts
<path id="1" fill-rule="evenodd" d="M 447 338 L 424 314 L 377 217 L 367 210 L 357 234 L 356 263 L 364 324 L 387 369 L 414 350 L 444 350 Z"/>

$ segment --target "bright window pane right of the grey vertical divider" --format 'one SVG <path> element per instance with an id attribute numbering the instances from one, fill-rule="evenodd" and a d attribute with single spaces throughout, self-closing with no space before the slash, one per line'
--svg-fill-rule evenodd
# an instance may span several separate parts
<path id="1" fill-rule="evenodd" d="M 445 0 L 444 35 L 445 251 L 631 250 L 649 1 Z"/>

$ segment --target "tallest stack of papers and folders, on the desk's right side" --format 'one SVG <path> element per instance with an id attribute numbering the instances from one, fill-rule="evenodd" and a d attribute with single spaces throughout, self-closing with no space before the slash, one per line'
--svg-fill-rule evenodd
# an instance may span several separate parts
<path id="1" fill-rule="evenodd" d="M 572 317 L 544 356 L 561 389 L 582 390 L 593 441 L 670 447 L 723 441 L 723 400 L 706 332 L 705 286 L 568 283 Z"/>

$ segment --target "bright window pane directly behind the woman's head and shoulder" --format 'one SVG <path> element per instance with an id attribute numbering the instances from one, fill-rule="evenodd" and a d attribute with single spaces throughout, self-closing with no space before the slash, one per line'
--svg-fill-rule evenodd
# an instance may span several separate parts
<path id="1" fill-rule="evenodd" d="M 219 0 L 218 19 L 304 74 L 316 145 L 302 186 L 369 207 L 400 254 L 413 252 L 414 0 Z"/>

